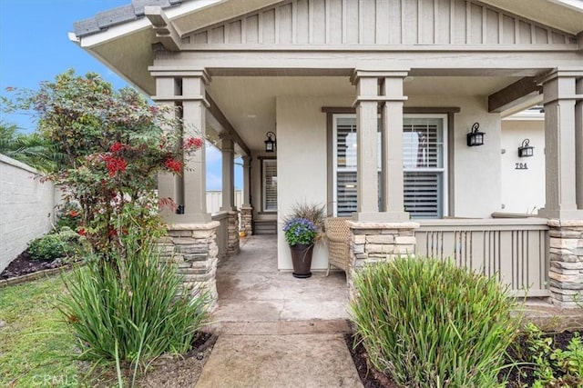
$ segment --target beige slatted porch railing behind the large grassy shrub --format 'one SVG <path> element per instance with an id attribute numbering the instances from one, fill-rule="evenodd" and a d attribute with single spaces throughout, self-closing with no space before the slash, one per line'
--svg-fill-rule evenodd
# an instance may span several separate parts
<path id="1" fill-rule="evenodd" d="M 450 258 L 510 286 L 548 296 L 548 226 L 541 218 L 422 220 L 416 254 Z"/>

